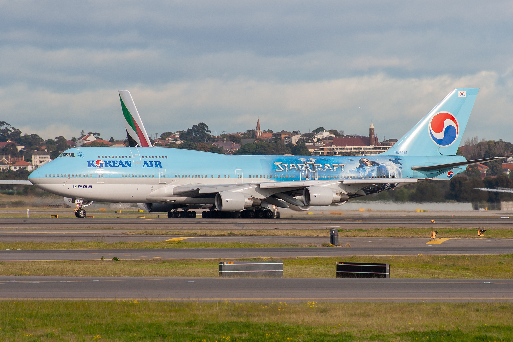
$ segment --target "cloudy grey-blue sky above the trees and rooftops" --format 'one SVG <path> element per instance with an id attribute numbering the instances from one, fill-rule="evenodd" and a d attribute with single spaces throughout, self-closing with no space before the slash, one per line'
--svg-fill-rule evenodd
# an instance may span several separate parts
<path id="1" fill-rule="evenodd" d="M 511 1 L 0 0 L 0 120 L 44 138 L 319 126 L 400 138 L 456 87 L 464 139 L 513 140 Z M 360 109 L 361 107 L 362 109 Z"/>

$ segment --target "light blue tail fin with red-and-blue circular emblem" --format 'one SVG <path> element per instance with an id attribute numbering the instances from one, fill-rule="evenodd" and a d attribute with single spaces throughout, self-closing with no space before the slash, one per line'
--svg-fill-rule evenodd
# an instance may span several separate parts
<path id="1" fill-rule="evenodd" d="M 433 108 L 387 155 L 456 155 L 479 88 L 456 88 Z"/>

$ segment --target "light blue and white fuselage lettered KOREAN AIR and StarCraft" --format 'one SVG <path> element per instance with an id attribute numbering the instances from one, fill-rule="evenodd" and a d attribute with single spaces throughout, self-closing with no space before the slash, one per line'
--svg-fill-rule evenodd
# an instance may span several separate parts
<path id="1" fill-rule="evenodd" d="M 33 171 L 29 180 L 45 191 L 65 197 L 123 203 L 147 202 L 149 193 L 169 185 L 434 177 L 441 172 L 419 172 L 411 170 L 411 167 L 465 160 L 462 156 L 391 154 L 222 155 L 155 147 L 72 148 L 63 155 Z M 365 192 L 369 194 L 390 188 L 368 187 Z M 192 203 L 200 202 L 198 199 L 192 200 Z"/>

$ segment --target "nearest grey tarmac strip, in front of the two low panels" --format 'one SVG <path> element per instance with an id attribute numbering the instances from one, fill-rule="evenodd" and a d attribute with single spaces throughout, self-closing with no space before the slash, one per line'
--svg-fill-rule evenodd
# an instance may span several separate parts
<path id="1" fill-rule="evenodd" d="M 513 280 L 0 277 L 0 300 L 513 302 Z"/>

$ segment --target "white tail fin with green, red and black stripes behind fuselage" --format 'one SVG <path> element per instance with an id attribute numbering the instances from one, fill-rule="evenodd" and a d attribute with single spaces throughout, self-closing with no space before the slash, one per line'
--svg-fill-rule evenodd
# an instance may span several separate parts
<path id="1" fill-rule="evenodd" d="M 132 95 L 130 95 L 128 90 L 120 90 L 119 93 L 121 108 L 123 109 L 123 116 L 125 117 L 128 144 L 130 147 L 135 147 L 135 145 L 151 147 L 150 138 L 148 137 L 148 133 L 146 133 L 141 116 L 139 116 L 139 112 L 137 112 L 137 108 L 135 108 Z"/>

